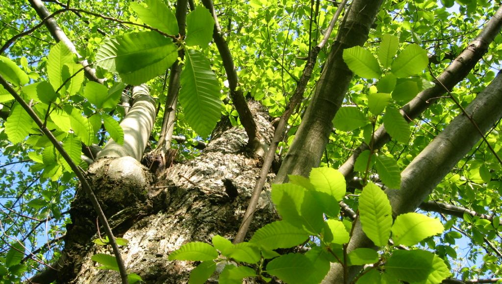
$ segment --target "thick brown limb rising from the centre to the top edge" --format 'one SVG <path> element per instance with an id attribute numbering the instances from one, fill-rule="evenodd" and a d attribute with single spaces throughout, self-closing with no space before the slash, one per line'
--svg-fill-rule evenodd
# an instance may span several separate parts
<path id="1" fill-rule="evenodd" d="M 366 42 L 383 0 L 354 0 L 338 30 L 314 96 L 305 112 L 295 139 L 277 174 L 276 183 L 287 181 L 287 175 L 308 176 L 319 166 L 331 133 L 333 117 L 340 108 L 352 72 L 343 61 L 343 50 Z"/>

